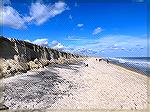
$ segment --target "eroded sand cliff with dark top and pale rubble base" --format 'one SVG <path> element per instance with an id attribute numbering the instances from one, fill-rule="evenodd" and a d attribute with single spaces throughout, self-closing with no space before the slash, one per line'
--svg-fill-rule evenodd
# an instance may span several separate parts
<path id="1" fill-rule="evenodd" d="M 79 55 L 61 52 L 29 42 L 0 37 L 0 78 L 18 72 L 43 68 L 55 63 L 68 63 Z"/>

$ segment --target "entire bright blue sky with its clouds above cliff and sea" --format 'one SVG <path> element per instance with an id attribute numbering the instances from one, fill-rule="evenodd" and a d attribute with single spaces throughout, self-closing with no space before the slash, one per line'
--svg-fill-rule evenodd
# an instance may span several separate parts
<path id="1" fill-rule="evenodd" d="M 3 36 L 92 56 L 147 56 L 143 0 L 23 1 L 2 3 Z"/>

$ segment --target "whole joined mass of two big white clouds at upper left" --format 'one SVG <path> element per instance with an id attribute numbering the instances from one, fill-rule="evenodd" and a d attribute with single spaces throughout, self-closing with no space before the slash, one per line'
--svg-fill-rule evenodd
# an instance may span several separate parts
<path id="1" fill-rule="evenodd" d="M 40 2 L 32 3 L 29 16 L 19 14 L 17 10 L 10 6 L 10 1 L 2 2 L 0 7 L 0 24 L 9 26 L 14 29 L 26 28 L 27 23 L 35 23 L 41 25 L 49 18 L 55 17 L 67 10 L 67 4 L 64 2 L 56 2 L 55 4 L 44 4 Z"/>

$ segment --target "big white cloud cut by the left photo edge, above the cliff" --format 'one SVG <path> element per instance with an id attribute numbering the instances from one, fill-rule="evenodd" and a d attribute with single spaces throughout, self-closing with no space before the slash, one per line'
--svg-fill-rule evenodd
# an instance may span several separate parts
<path id="1" fill-rule="evenodd" d="M 21 15 L 12 7 L 4 6 L 0 8 L 0 24 L 10 26 L 15 29 L 26 28 L 25 21 Z"/>

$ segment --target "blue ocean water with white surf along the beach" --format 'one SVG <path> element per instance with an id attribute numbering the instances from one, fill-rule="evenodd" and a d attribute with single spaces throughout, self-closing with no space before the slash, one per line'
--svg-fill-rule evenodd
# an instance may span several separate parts
<path id="1" fill-rule="evenodd" d="M 150 76 L 150 57 L 107 58 L 112 63 Z"/>

